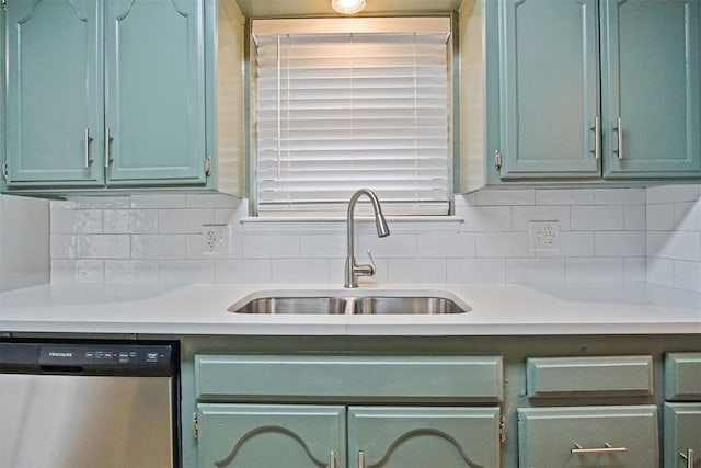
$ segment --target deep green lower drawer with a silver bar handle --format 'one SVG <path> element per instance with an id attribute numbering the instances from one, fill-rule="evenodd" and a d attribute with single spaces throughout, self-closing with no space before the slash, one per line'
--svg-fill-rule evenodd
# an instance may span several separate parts
<path id="1" fill-rule="evenodd" d="M 518 410 L 522 467 L 657 468 L 654 406 Z"/>

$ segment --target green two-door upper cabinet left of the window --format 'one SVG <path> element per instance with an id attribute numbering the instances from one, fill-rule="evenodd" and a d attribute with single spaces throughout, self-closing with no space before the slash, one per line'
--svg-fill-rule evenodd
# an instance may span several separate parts
<path id="1" fill-rule="evenodd" d="M 204 186 L 203 0 L 9 0 L 7 186 Z"/>

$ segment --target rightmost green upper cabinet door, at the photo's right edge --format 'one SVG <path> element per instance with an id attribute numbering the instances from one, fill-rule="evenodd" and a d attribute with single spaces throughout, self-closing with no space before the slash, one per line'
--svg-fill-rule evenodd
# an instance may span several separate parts
<path id="1" fill-rule="evenodd" d="M 698 0 L 602 0 L 605 178 L 701 175 L 700 10 Z"/>

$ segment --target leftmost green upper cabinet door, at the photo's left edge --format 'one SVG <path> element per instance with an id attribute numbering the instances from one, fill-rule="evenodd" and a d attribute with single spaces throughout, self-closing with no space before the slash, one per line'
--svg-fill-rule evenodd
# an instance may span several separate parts
<path id="1" fill-rule="evenodd" d="M 7 3 L 8 187 L 104 183 L 95 0 Z"/>

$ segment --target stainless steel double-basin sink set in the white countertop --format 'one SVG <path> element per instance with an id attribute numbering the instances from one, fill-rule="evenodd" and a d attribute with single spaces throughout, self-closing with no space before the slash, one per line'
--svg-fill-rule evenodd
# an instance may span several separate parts
<path id="1" fill-rule="evenodd" d="M 471 309 L 445 292 L 320 289 L 258 292 L 227 310 L 234 313 L 440 315 L 466 313 Z"/>

